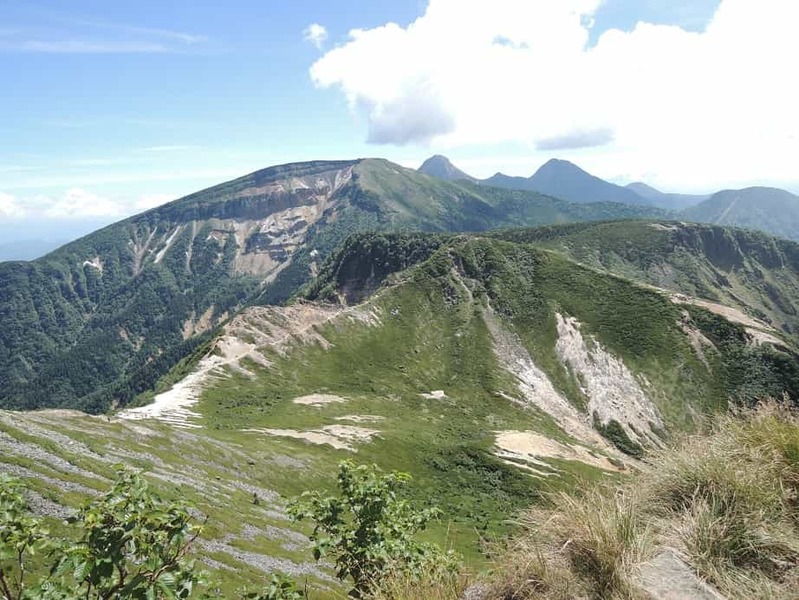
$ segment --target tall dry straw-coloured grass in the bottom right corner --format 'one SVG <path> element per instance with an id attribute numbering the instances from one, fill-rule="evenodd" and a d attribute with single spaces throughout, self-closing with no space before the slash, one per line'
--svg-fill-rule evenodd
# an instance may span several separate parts
<path id="1" fill-rule="evenodd" d="M 728 598 L 799 598 L 796 412 L 768 402 L 718 416 L 648 463 L 621 484 L 559 494 L 523 515 L 474 597 L 637 600 L 639 566 L 671 547 Z M 454 600 L 465 588 L 402 586 L 391 582 L 380 600 Z"/>

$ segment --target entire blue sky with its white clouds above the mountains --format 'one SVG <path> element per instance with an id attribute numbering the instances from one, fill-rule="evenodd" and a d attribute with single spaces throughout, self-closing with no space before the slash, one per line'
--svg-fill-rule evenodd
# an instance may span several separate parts
<path id="1" fill-rule="evenodd" d="M 481 178 L 559 157 L 664 191 L 799 192 L 794 2 L 331 4 L 0 7 L 0 241 L 358 156 L 445 154 Z"/>

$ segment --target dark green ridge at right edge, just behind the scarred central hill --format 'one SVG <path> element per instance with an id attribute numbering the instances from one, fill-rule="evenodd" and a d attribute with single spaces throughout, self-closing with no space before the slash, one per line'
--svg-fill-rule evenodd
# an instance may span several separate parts
<path id="1" fill-rule="evenodd" d="M 580 263 L 742 308 L 799 331 L 799 244 L 712 225 L 609 222 L 515 230 L 500 239 L 543 245 Z"/>

